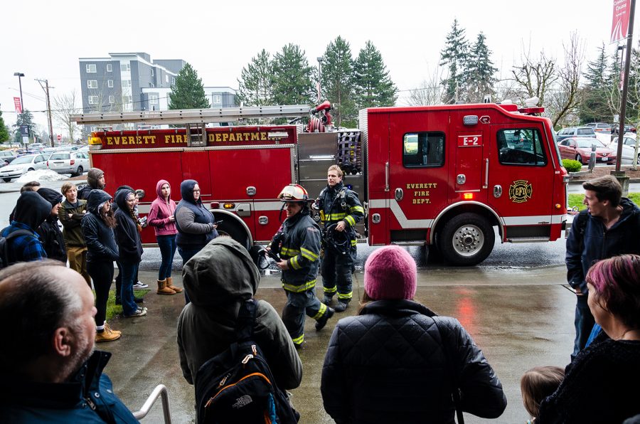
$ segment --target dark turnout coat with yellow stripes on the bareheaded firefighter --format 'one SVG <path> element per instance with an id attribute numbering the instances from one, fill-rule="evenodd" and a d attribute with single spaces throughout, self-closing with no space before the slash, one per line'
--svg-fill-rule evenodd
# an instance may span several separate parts
<path id="1" fill-rule="evenodd" d="M 364 209 L 358 200 L 358 194 L 346 189 L 342 182 L 336 184 L 334 188 L 326 186 L 318 196 L 317 206 L 320 209 L 320 220 L 324 227 L 345 221 L 348 224 L 347 231 L 352 244 L 355 245 L 356 231 L 353 227 L 364 218 Z"/>

